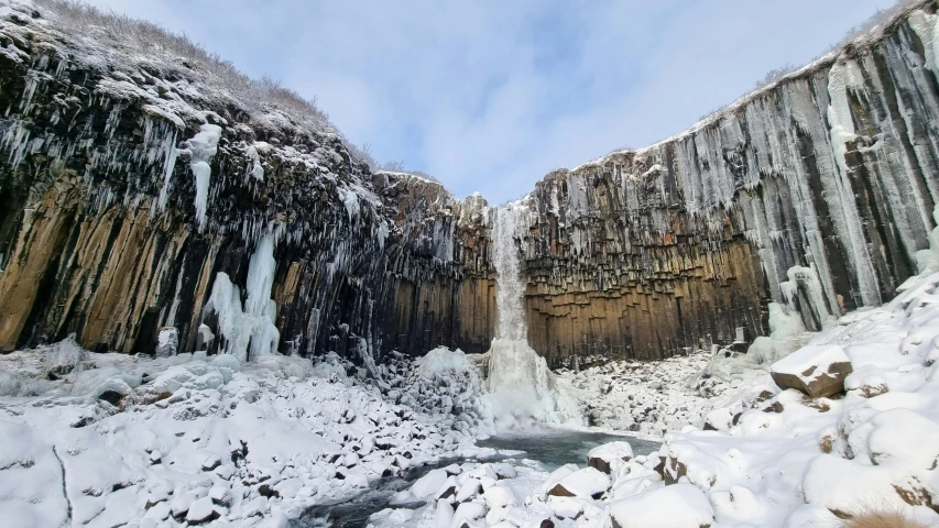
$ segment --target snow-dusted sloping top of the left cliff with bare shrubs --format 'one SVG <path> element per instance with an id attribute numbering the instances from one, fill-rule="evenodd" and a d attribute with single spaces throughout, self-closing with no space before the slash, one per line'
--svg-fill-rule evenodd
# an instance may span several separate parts
<path id="1" fill-rule="evenodd" d="M 181 129 L 247 114 L 253 129 L 274 138 L 339 135 L 315 101 L 274 80 L 252 79 L 150 22 L 66 0 L 0 0 L 0 35 L 13 43 L 3 51 L 8 57 L 29 66 L 35 54 L 23 47 L 32 47 L 66 58 L 72 69 L 101 74 L 100 95 L 145 101 L 149 113 Z"/>

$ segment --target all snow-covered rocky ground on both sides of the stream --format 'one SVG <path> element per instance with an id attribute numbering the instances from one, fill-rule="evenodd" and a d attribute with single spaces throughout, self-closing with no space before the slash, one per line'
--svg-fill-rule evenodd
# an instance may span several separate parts
<path id="1" fill-rule="evenodd" d="M 784 361 L 779 343 L 804 336 L 779 330 L 746 355 L 557 373 L 594 425 L 664 433 L 663 447 L 631 457 L 607 446 L 590 466 L 552 473 L 521 458 L 451 464 L 372 524 L 833 528 L 874 508 L 939 526 L 937 288 L 939 274 L 914 277 L 891 304 L 841 318 Z M 771 375 L 771 365 L 806 367 L 796 377 L 810 382 L 812 369 L 845 358 L 845 391 L 828 397 L 780 389 Z M 64 341 L 3 355 L 0 519 L 285 526 L 382 475 L 483 453 L 473 440 L 499 420 L 480 361 L 437 349 L 370 378 L 335 354 L 150 359 Z"/>

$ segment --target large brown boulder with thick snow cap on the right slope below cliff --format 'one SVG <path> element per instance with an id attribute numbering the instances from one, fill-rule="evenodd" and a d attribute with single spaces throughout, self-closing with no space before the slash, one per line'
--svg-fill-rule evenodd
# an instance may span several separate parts
<path id="1" fill-rule="evenodd" d="M 820 398 L 842 392 L 852 370 L 844 349 L 826 344 L 802 346 L 773 363 L 769 373 L 780 388 L 795 388 Z"/>

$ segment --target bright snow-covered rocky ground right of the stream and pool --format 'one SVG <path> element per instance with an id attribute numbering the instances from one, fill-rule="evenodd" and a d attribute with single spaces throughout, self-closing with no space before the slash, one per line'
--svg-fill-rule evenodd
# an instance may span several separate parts
<path id="1" fill-rule="evenodd" d="M 436 503 L 387 509 L 374 526 L 836 528 L 871 510 L 939 526 L 937 288 L 939 274 L 914 277 L 891 304 L 841 318 L 775 366 L 721 352 L 565 373 L 594 422 L 679 431 L 648 457 L 596 450 L 609 475 L 587 461 L 527 469 L 520 482 L 460 468 L 437 475 L 436 493 L 412 487 Z M 830 397 L 771 376 L 797 365 L 808 380 L 844 358 L 845 391 Z"/>

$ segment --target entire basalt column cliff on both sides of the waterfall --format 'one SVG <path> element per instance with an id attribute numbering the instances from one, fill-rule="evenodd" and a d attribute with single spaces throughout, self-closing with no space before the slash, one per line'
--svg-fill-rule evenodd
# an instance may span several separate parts
<path id="1" fill-rule="evenodd" d="M 0 351 L 152 352 L 167 328 L 365 366 L 488 349 L 481 197 L 372 173 L 283 90 L 67 14 L 0 15 Z M 513 208 L 532 346 L 655 359 L 764 336 L 768 302 L 817 329 L 889 299 L 936 226 L 937 20 L 918 2 L 683 134 L 546 176 Z"/>

